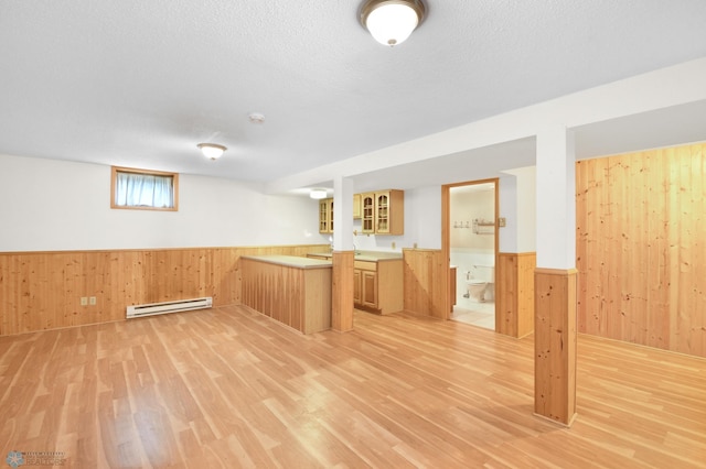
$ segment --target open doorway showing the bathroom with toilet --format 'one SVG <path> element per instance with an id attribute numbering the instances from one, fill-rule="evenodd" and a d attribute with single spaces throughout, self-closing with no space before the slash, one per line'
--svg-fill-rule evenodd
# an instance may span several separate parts
<path id="1" fill-rule="evenodd" d="M 451 291 L 449 319 L 495 330 L 498 179 L 448 188 L 448 252 Z M 447 199 L 447 198 L 445 198 Z"/>

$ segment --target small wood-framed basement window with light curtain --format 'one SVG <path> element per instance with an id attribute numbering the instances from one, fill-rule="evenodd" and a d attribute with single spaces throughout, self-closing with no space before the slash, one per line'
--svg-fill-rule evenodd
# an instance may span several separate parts
<path id="1" fill-rule="evenodd" d="M 179 174 L 113 166 L 110 208 L 179 209 Z"/>

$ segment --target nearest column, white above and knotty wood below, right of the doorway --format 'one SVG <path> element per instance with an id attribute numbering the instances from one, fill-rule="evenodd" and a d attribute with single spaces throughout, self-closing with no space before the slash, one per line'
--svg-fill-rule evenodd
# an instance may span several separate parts
<path id="1" fill-rule="evenodd" d="M 576 156 L 564 126 L 537 133 L 535 415 L 576 415 Z"/>

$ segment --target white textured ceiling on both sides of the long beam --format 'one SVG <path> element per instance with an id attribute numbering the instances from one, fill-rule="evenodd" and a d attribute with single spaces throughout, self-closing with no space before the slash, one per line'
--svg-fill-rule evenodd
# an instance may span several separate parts
<path id="1" fill-rule="evenodd" d="M 388 48 L 361 0 L 0 0 L 0 154 L 265 183 L 706 56 L 704 0 L 425 1 Z M 706 139 L 705 111 L 587 126 L 577 152 Z M 200 142 L 228 151 L 212 162 Z M 514 155 L 492 173 L 533 164 L 534 143 L 482 152 Z M 451 183 L 463 156 L 356 177 Z"/>

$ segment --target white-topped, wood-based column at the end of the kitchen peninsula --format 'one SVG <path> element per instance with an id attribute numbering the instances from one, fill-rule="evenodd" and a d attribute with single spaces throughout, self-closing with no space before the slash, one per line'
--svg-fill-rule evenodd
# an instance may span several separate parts
<path id="1" fill-rule="evenodd" d="M 333 179 L 333 280 L 331 328 L 353 329 L 353 181 Z"/>

